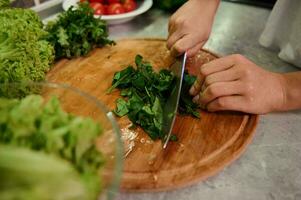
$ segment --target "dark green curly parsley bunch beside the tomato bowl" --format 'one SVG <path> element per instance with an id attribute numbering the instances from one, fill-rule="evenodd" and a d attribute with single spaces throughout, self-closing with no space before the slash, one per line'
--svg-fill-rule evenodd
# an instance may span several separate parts
<path id="1" fill-rule="evenodd" d="M 49 22 L 46 30 L 56 59 L 87 55 L 95 47 L 114 44 L 108 39 L 105 21 L 94 18 L 94 10 L 87 2 L 70 7 L 58 20 Z"/>

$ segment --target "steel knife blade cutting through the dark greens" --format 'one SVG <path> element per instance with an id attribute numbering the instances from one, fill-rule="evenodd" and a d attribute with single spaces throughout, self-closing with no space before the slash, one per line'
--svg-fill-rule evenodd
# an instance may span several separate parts
<path id="1" fill-rule="evenodd" d="M 170 93 L 165 106 L 163 107 L 163 124 L 162 124 L 162 131 L 165 134 L 163 148 L 167 147 L 168 141 L 172 134 L 172 128 L 174 126 L 177 110 L 181 95 L 182 83 L 184 78 L 184 70 L 185 70 L 185 63 L 186 63 L 186 52 L 178 57 L 176 61 L 171 65 L 170 70 L 174 74 L 176 83 L 175 87 Z"/>

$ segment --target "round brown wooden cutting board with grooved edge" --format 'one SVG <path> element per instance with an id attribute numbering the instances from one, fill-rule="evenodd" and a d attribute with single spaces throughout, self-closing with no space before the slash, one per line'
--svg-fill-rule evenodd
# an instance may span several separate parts
<path id="1" fill-rule="evenodd" d="M 116 71 L 134 64 L 136 54 L 150 61 L 155 70 L 168 68 L 174 61 L 164 40 L 120 40 L 116 46 L 96 49 L 85 58 L 58 62 L 48 73 L 47 80 L 68 83 L 114 109 L 119 92 L 108 95 L 105 91 Z M 216 57 L 202 50 L 187 61 L 186 67 L 190 73 L 197 73 L 202 64 Z M 118 122 L 122 130 L 130 124 L 126 117 Z M 121 188 L 126 191 L 162 191 L 212 176 L 242 154 L 253 138 L 257 122 L 257 115 L 238 112 L 201 111 L 201 119 L 177 116 L 173 133 L 177 134 L 179 141 L 170 142 L 164 150 L 161 141 L 153 142 L 137 129 L 135 146 L 124 162 Z"/>

